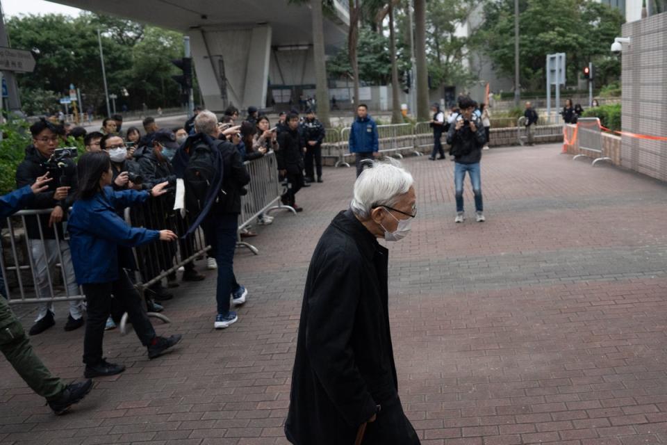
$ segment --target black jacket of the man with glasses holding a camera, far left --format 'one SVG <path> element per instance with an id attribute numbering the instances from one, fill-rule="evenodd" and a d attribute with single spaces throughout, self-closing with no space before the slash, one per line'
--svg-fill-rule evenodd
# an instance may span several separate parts
<path id="1" fill-rule="evenodd" d="M 56 168 L 55 165 L 44 165 L 48 159 L 42 156 L 40 152 L 35 148 L 34 145 L 28 145 L 26 148 L 26 157 L 19 164 L 16 169 L 16 187 L 21 188 L 23 186 L 30 186 L 35 183 L 35 180 L 49 172 L 49 176 L 53 179 L 49 182 L 49 188 L 42 193 L 37 193 L 31 204 L 26 207 L 27 209 L 50 209 L 59 205 L 63 207 L 65 211 L 65 217 L 67 217 L 67 209 L 72 207 L 74 203 L 74 195 L 76 194 L 77 182 L 76 182 L 76 165 L 72 159 L 65 159 L 63 161 L 64 166 L 60 169 Z M 53 199 L 53 193 L 56 192 L 56 188 L 60 186 L 69 186 L 69 195 L 67 198 L 62 201 L 56 201 Z M 44 234 L 44 239 L 55 239 L 56 232 L 54 227 L 49 227 L 49 213 L 45 213 L 40 216 L 40 221 L 42 222 L 42 234 Z M 63 225 L 55 225 L 58 229 L 58 238 L 63 239 Z M 35 217 L 26 218 L 26 230 L 28 232 L 28 238 L 39 239 L 40 238 L 40 227 Z"/>

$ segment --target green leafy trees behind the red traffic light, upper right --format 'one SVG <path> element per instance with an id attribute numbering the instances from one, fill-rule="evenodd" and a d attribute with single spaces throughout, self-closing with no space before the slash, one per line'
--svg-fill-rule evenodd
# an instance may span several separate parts
<path id="1" fill-rule="evenodd" d="M 514 1 L 487 1 L 486 22 L 479 40 L 501 73 L 514 72 Z M 581 69 L 593 61 L 598 82 L 620 73 L 620 64 L 609 55 L 609 42 L 620 35 L 623 15 L 593 0 L 520 0 L 520 76 L 522 88 L 543 88 L 546 54 L 567 55 L 568 83 L 575 83 Z"/>

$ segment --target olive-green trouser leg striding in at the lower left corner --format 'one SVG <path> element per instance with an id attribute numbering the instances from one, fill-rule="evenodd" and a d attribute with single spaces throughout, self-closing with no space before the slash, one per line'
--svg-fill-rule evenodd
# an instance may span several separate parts
<path id="1" fill-rule="evenodd" d="M 65 391 L 65 383 L 54 377 L 35 354 L 23 326 L 0 296 L 0 350 L 16 372 L 37 394 L 55 400 Z"/>

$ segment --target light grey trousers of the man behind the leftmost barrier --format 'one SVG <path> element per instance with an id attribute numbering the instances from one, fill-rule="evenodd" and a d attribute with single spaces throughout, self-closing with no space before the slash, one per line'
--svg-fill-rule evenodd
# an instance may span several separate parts
<path id="1" fill-rule="evenodd" d="M 55 280 L 56 264 L 62 257 L 61 264 L 65 273 L 65 284 L 67 286 L 67 295 L 79 295 L 79 286 L 76 284 L 76 277 L 74 276 L 74 266 L 72 265 L 72 254 L 69 252 L 69 243 L 64 240 L 56 241 L 55 239 L 29 239 L 31 254 L 35 264 L 35 281 L 37 282 L 37 296 L 38 298 L 51 298 L 51 288 Z M 60 255 L 58 255 L 60 250 Z M 48 272 L 47 272 L 48 270 Z M 51 277 L 51 284 L 49 284 L 49 276 Z M 53 313 L 53 302 L 42 303 L 38 307 L 38 314 L 35 321 L 39 321 L 47 312 Z M 69 315 L 78 320 L 83 316 L 83 302 L 71 301 L 69 302 Z"/>

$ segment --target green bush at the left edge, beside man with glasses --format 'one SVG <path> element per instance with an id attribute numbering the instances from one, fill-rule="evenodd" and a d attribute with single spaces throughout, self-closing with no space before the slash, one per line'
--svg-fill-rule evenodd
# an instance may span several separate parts
<path id="1" fill-rule="evenodd" d="M 23 161 L 25 149 L 31 143 L 28 123 L 9 121 L 0 124 L 0 194 L 4 195 L 16 188 L 16 168 Z"/>

